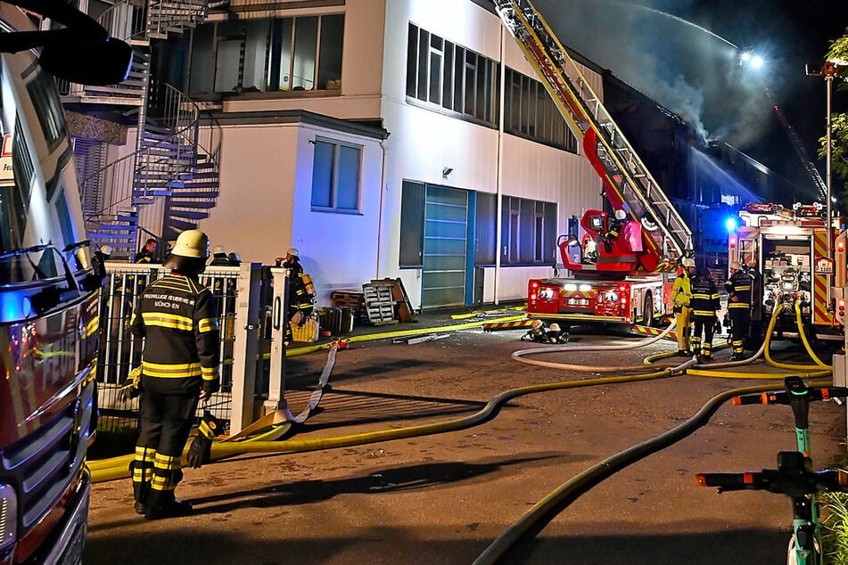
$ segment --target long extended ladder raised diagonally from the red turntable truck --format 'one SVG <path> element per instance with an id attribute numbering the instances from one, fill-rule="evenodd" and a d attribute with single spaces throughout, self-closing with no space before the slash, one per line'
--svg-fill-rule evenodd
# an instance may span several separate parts
<path id="1" fill-rule="evenodd" d="M 642 223 L 657 258 L 679 258 L 692 250 L 688 225 L 539 12 L 529 0 L 495 0 L 495 7 L 572 133 L 582 141 L 613 208 L 621 207 L 630 219 Z"/>

